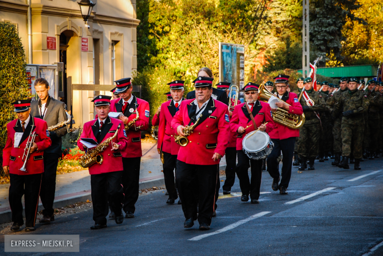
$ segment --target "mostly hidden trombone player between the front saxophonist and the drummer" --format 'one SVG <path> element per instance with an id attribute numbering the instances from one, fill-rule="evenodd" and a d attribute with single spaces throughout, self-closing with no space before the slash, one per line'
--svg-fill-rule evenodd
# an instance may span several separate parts
<path id="1" fill-rule="evenodd" d="M 227 96 L 229 97 L 229 101 L 231 101 L 231 106 L 241 104 L 240 100 L 237 100 L 236 104 L 234 99 L 230 98 L 230 83 L 219 82 L 217 88 L 220 90 L 226 91 Z M 239 93 L 239 92 L 238 92 Z M 229 115 L 232 115 L 232 111 L 229 111 Z M 225 158 L 226 158 L 226 179 L 225 183 L 222 186 L 223 195 L 229 195 L 231 192 L 231 187 L 233 187 L 235 182 L 235 166 L 237 163 L 237 133 L 230 131 L 229 133 L 229 143 L 227 144 L 225 150 Z"/>

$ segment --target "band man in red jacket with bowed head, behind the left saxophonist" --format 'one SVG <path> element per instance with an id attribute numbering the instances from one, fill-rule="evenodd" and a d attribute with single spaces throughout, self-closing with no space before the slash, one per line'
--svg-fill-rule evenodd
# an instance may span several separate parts
<path id="1" fill-rule="evenodd" d="M 114 82 L 117 85 L 116 92 L 120 94 L 121 98 L 110 102 L 110 111 L 122 112 L 124 116 L 120 116 L 119 119 L 125 125 L 131 121 L 134 122 L 138 117 L 129 130 L 126 131 L 129 146 L 121 152 L 124 166 L 122 186 L 124 187 L 125 194 L 123 209 L 126 213 L 125 218 L 134 218 L 135 204 L 138 199 L 139 168 L 142 156 L 141 131 L 147 130 L 149 126 L 149 103 L 132 94 L 133 86 L 130 78 L 123 78 Z M 112 213 L 110 213 L 109 218 L 113 218 Z"/>

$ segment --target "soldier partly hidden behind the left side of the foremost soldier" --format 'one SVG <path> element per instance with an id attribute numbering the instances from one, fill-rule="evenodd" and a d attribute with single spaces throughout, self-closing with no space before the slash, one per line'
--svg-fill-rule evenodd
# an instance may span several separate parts
<path id="1" fill-rule="evenodd" d="M 342 92 L 347 91 L 347 83 L 348 78 L 347 77 L 342 77 L 339 80 L 339 86 L 340 88 L 333 94 L 330 94 L 330 97 L 327 101 L 327 105 L 330 108 L 330 111 L 332 112 L 334 110 L 335 104 L 337 103 L 338 99 L 340 98 L 340 95 Z M 338 166 L 340 163 L 340 155 L 342 152 L 342 137 L 341 137 L 341 123 L 342 123 L 342 116 L 336 116 L 332 115 L 334 124 L 332 126 L 332 136 L 334 138 L 334 154 L 335 154 L 335 159 L 334 162 L 331 163 L 333 166 Z"/>

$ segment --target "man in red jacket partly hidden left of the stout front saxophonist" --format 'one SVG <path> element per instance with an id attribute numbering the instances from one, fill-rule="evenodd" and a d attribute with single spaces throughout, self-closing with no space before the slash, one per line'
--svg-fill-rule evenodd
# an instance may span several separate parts
<path id="1" fill-rule="evenodd" d="M 175 199 L 178 198 L 177 190 L 174 183 L 173 170 L 176 169 L 177 155 L 180 145 L 174 141 L 176 133 L 171 129 L 171 120 L 173 116 L 179 111 L 181 102 L 184 100 L 184 81 L 173 81 L 169 84 L 170 93 L 172 96 L 171 101 L 166 101 L 161 105 L 161 112 L 158 127 L 158 153 L 164 154 L 164 178 L 166 190 L 169 194 L 167 204 L 173 204 Z"/>

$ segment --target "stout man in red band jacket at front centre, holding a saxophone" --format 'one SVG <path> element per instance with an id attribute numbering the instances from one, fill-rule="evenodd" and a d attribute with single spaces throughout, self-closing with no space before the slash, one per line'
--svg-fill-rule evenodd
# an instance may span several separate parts
<path id="1" fill-rule="evenodd" d="M 171 127 L 180 136 L 184 136 L 183 129 L 187 125 L 194 126 L 193 133 L 188 136 L 189 143 L 178 152 L 176 183 L 186 218 L 184 227 L 191 228 L 198 218 L 199 229 L 208 230 L 218 197 L 219 159 L 228 142 L 229 112 L 227 105 L 212 98 L 213 78 L 198 77 L 193 83 L 195 99 L 183 101 L 171 121 Z M 194 195 L 195 180 L 198 202 Z"/>

